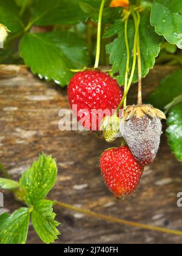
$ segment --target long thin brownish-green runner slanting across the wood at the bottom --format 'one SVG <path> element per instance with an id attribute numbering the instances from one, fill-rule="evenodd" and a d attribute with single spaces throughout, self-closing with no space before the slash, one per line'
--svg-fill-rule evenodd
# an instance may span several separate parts
<path id="1" fill-rule="evenodd" d="M 95 213 L 95 212 L 92 212 L 90 210 L 86 210 L 86 209 L 83 209 L 83 208 L 77 208 L 77 207 L 74 207 L 72 205 L 65 204 L 64 202 L 58 202 L 57 205 L 59 205 L 60 207 L 72 210 L 74 212 L 82 213 L 83 215 L 91 216 L 91 217 L 97 218 L 97 219 L 102 219 L 104 221 L 110 221 L 110 222 L 113 222 L 113 223 L 118 223 L 118 224 L 131 226 L 131 227 L 137 227 L 137 228 L 140 228 L 140 229 L 146 229 L 146 230 L 152 230 L 152 231 L 157 231 L 157 232 L 162 232 L 162 233 L 170 233 L 170 234 L 173 234 L 173 235 L 182 236 L 182 232 L 178 231 L 178 230 L 164 229 L 163 227 L 155 227 L 155 226 L 150 226 L 150 225 L 146 225 L 146 224 L 141 224 L 141 223 L 138 223 L 138 222 L 126 221 L 124 219 L 118 219 L 118 218 L 114 218 L 112 216 L 107 216 L 107 215 L 103 215 L 103 214 L 100 214 L 100 213 Z"/>

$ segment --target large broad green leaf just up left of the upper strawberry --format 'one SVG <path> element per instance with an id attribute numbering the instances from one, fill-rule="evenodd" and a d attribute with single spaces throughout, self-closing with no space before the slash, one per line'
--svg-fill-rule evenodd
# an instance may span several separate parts
<path id="1" fill-rule="evenodd" d="M 68 69 L 78 69 L 80 63 L 89 65 L 83 38 L 71 32 L 26 34 L 19 51 L 34 74 L 55 80 L 62 86 L 69 84 L 73 74 Z"/>

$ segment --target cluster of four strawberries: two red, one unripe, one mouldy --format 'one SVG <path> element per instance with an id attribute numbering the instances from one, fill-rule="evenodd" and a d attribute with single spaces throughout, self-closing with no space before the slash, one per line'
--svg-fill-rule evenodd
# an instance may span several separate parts
<path id="1" fill-rule="evenodd" d="M 123 89 L 109 74 L 98 70 L 73 76 L 68 96 L 70 107 L 77 105 L 77 120 L 86 118 L 83 123 L 86 129 L 99 131 L 101 127 L 106 141 L 112 142 L 118 136 L 126 141 L 127 146 L 103 153 L 100 168 L 107 187 L 117 198 L 129 196 L 138 187 L 144 166 L 151 164 L 157 155 L 162 130 L 160 119 L 165 118 L 164 114 L 151 105 L 133 105 L 124 108 L 119 118 L 116 109 L 123 98 Z M 98 110 L 106 109 L 110 113 L 115 110 L 112 118 L 99 115 Z M 115 124 L 111 126 L 113 121 Z"/>

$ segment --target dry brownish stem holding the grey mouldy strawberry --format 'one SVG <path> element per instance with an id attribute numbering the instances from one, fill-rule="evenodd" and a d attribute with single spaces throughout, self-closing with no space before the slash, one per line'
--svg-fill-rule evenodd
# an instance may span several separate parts
<path id="1" fill-rule="evenodd" d="M 136 11 L 138 21 L 140 21 L 140 13 Z M 142 93 L 141 93 L 141 53 L 140 53 L 140 33 L 138 32 L 136 52 L 138 57 L 138 105 L 142 105 Z"/>

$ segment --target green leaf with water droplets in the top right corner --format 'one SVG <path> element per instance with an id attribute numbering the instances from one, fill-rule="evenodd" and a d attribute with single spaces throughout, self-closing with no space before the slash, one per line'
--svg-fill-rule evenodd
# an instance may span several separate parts
<path id="1" fill-rule="evenodd" d="M 182 49 L 182 1 L 156 0 L 150 21 L 159 35 Z"/>

